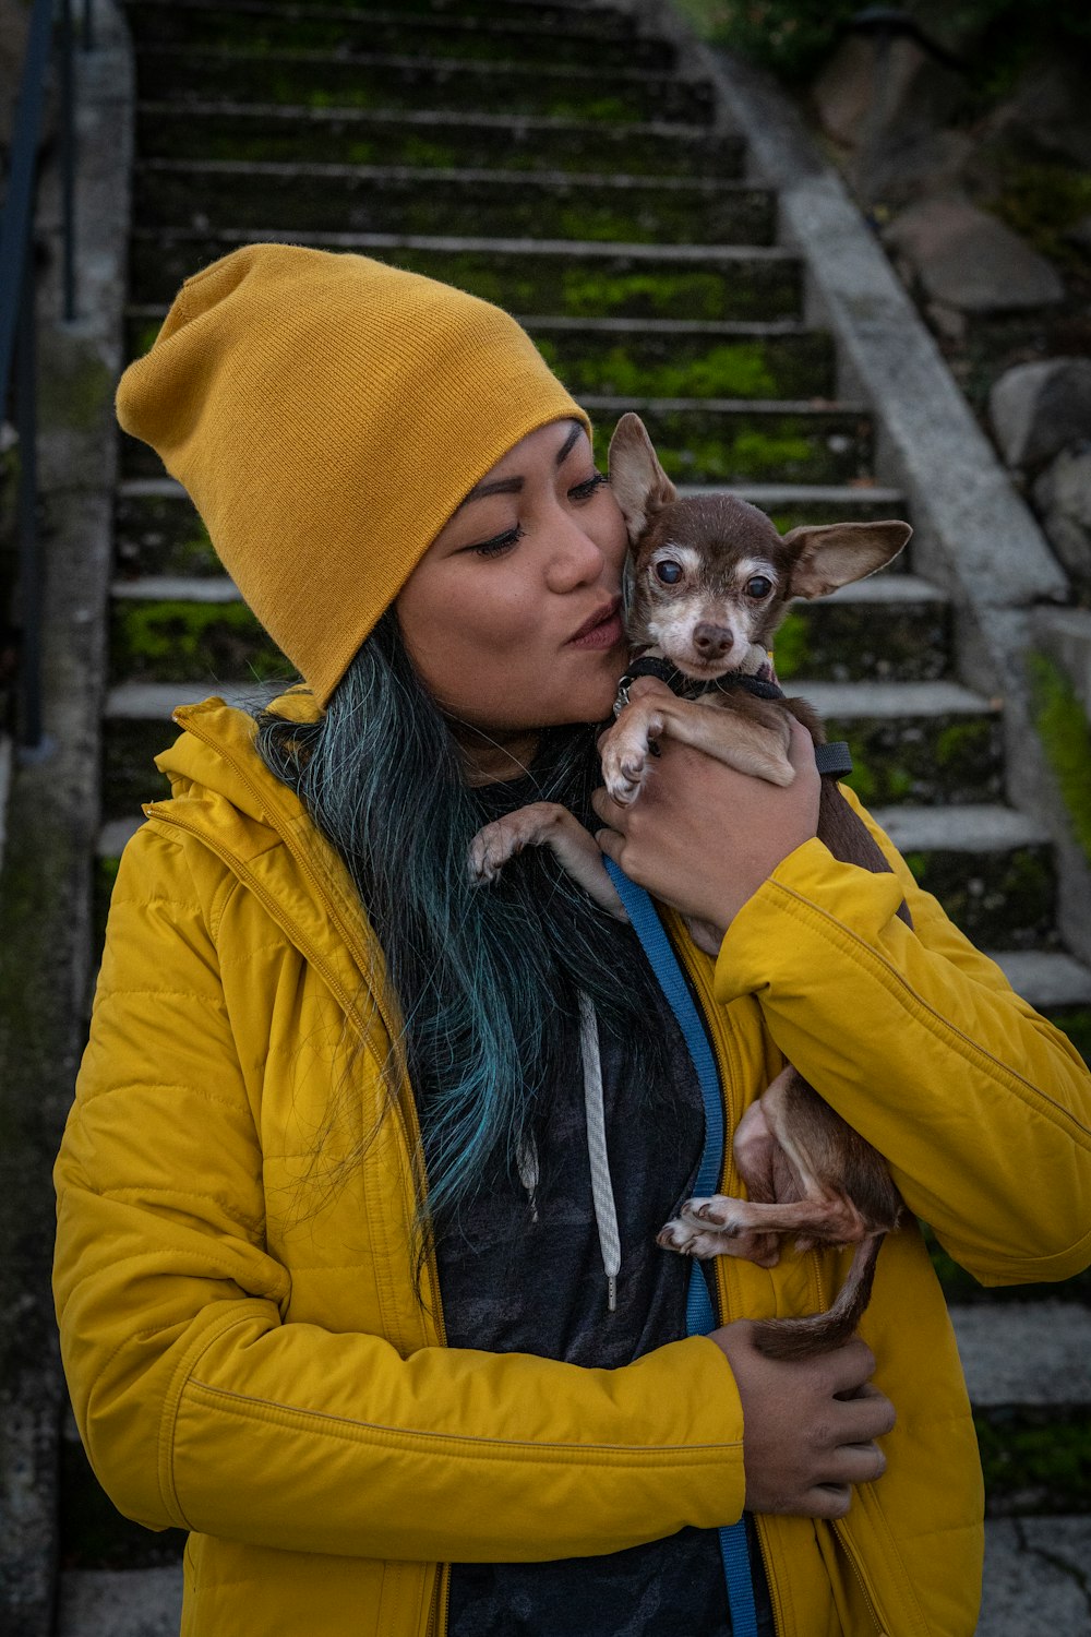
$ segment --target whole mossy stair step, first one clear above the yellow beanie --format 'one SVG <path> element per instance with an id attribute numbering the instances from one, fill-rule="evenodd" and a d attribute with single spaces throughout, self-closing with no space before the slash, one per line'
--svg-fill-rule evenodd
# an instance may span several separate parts
<path id="1" fill-rule="evenodd" d="M 270 200 L 275 203 L 270 205 Z M 767 188 L 695 177 L 415 170 L 316 162 L 150 159 L 136 167 L 142 228 L 281 232 L 535 234 L 628 244 L 762 244 L 775 232 Z"/>

